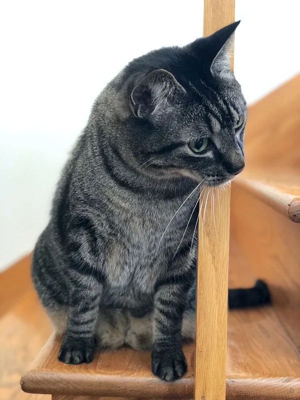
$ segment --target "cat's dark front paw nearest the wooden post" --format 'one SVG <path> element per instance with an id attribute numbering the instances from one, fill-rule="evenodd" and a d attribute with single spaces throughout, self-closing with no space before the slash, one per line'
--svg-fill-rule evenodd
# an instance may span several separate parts
<path id="1" fill-rule="evenodd" d="M 175 380 L 186 372 L 187 365 L 184 354 L 179 349 L 152 351 L 152 372 L 163 380 Z"/>

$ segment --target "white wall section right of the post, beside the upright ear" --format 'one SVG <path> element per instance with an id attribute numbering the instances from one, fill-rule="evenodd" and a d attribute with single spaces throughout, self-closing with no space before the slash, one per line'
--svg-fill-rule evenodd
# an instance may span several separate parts
<path id="1" fill-rule="evenodd" d="M 235 0 L 234 71 L 248 103 L 300 70 L 299 0 Z"/>

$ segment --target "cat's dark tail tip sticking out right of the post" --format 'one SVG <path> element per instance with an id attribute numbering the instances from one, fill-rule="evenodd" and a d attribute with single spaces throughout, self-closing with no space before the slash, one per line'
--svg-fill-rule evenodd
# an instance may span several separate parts
<path id="1" fill-rule="evenodd" d="M 228 290 L 228 308 L 254 307 L 270 302 L 269 289 L 261 279 L 256 280 L 253 287 Z"/>

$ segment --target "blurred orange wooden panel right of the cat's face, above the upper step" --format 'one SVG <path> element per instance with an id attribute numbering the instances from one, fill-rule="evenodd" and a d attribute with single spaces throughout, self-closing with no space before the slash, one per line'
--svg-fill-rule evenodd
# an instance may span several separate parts
<path id="1" fill-rule="evenodd" d="M 278 87 L 247 111 L 247 168 L 300 170 L 300 74 Z"/>

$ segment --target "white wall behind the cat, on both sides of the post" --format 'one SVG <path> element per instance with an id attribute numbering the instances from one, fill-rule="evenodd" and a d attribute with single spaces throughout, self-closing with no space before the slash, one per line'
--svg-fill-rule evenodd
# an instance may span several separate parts
<path id="1" fill-rule="evenodd" d="M 236 0 L 235 71 L 249 102 L 299 67 L 298 1 L 274 3 Z M 199 0 L 184 8 L 171 0 L 2 1 L 0 268 L 29 252 L 46 225 L 61 166 L 105 83 L 134 56 L 201 31 Z"/>

